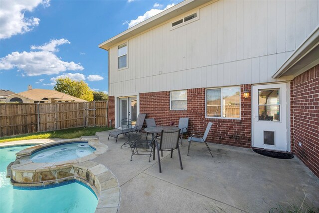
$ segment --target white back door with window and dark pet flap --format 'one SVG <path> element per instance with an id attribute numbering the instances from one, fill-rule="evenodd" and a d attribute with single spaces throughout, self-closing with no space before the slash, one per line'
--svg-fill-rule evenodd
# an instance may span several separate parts
<path id="1" fill-rule="evenodd" d="M 289 151 L 287 84 L 253 86 L 253 147 Z"/>

